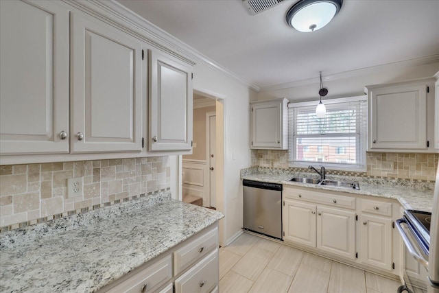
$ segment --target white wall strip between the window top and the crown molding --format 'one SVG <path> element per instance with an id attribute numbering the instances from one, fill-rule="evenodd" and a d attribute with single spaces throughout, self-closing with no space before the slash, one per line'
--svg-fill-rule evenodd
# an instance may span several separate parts
<path id="1" fill-rule="evenodd" d="M 376 67 L 369 70 L 353 71 L 351 74 L 342 74 L 338 76 L 340 78 L 335 75 L 328 81 L 324 80 L 325 76 L 323 73 L 323 86 L 328 89 L 329 93 L 322 100 L 363 95 L 364 86 L 402 82 L 418 78 L 431 78 L 438 71 L 439 62 L 416 66 L 390 65 Z M 291 102 L 318 101 L 320 80 L 316 78 L 302 83 L 303 85 L 292 86 L 286 89 L 261 90 L 254 101 L 274 99 L 276 97 L 286 97 Z M 298 84 L 300 84 L 300 82 L 298 82 Z"/>

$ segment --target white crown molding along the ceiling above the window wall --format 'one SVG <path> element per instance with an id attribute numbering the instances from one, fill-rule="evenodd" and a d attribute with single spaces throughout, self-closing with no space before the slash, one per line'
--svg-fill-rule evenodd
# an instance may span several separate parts
<path id="1" fill-rule="evenodd" d="M 392 62 L 392 63 L 388 63 L 388 64 L 383 64 L 383 65 L 377 65 L 377 66 L 372 66 L 372 67 L 365 67 L 365 68 L 361 68 L 361 69 L 344 71 L 344 72 L 340 72 L 340 73 L 333 73 L 330 75 L 326 75 L 324 78 L 322 78 L 322 81 L 329 82 L 331 80 L 342 80 L 344 78 L 352 78 L 352 77 L 371 74 L 371 73 L 378 73 L 381 71 L 400 69 L 403 67 L 414 67 L 414 66 L 418 66 L 418 65 L 428 65 L 428 64 L 432 64 L 432 63 L 438 63 L 438 62 L 439 62 L 439 54 L 436 54 L 436 55 L 431 55 L 431 56 L 403 60 L 403 61 L 399 61 L 399 62 Z M 289 89 L 292 87 L 305 86 L 308 84 L 316 84 L 317 82 L 320 82 L 320 77 L 308 78 L 306 80 L 298 80 L 296 82 L 287 82 L 285 84 L 276 84 L 273 86 L 264 86 L 260 89 L 259 93 L 265 93 L 268 91 L 277 91 L 277 90 L 281 90 L 281 89 Z"/>

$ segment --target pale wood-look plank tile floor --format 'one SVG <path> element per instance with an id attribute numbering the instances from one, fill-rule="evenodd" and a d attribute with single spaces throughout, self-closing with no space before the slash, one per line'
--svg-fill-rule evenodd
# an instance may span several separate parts
<path id="1" fill-rule="evenodd" d="M 396 293 L 400 285 L 248 233 L 219 249 L 220 293 Z"/>

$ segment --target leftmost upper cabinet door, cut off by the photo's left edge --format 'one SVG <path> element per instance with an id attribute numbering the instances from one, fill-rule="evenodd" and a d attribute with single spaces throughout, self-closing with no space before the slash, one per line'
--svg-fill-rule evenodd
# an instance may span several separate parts
<path id="1" fill-rule="evenodd" d="M 69 11 L 0 1 L 1 154 L 69 152 Z"/>

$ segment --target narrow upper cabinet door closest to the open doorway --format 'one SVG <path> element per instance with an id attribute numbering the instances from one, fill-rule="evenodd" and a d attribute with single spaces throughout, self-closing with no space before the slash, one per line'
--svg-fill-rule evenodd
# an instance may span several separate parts
<path id="1" fill-rule="evenodd" d="M 191 150 L 192 67 L 149 51 L 149 150 Z"/>

